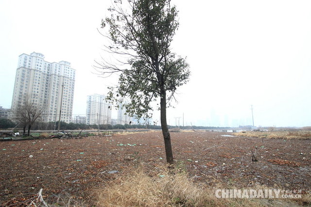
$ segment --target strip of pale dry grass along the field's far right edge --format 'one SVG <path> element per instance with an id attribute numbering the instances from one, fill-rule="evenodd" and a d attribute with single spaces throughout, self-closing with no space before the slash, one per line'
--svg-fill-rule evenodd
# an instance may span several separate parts
<path id="1" fill-rule="evenodd" d="M 245 131 L 233 133 L 235 136 L 258 137 L 268 139 L 310 140 L 310 131 Z"/>

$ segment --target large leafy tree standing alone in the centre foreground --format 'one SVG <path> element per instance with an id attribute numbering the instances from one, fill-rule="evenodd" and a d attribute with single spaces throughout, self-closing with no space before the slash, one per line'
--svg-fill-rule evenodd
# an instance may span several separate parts
<path id="1" fill-rule="evenodd" d="M 98 71 L 104 77 L 120 73 L 118 85 L 109 87 L 107 100 L 118 106 L 129 99 L 123 107 L 131 116 L 152 117 L 151 103 L 159 101 L 166 159 L 172 164 L 166 108 L 177 87 L 188 82 L 190 71 L 186 60 L 170 49 L 179 25 L 177 10 L 170 1 L 115 0 L 108 9 L 111 16 L 102 20 L 102 28 L 108 30 L 103 35 L 111 43 L 105 47 L 106 51 L 125 57 L 120 57 L 118 64 L 104 59 L 98 63 Z"/>

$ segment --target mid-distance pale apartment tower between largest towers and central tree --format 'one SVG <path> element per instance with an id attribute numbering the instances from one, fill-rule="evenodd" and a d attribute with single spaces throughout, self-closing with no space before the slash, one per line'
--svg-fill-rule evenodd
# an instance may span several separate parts
<path id="1" fill-rule="evenodd" d="M 106 96 L 94 94 L 87 96 L 86 124 L 111 124 L 111 104 L 106 103 Z"/>

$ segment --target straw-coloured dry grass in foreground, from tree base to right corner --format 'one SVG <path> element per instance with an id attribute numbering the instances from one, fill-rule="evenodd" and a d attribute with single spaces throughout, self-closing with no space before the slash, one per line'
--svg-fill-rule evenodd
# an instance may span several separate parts
<path id="1" fill-rule="evenodd" d="M 291 200 L 274 199 L 239 199 L 216 198 L 217 189 L 236 189 L 222 181 L 208 177 L 207 183 L 195 183 L 181 170 L 168 170 L 167 167 L 157 168 L 157 172 L 147 173 L 139 167 L 131 173 L 119 176 L 96 194 L 98 207 L 206 207 L 206 206 L 298 206 Z M 255 186 L 252 189 L 267 189 Z M 310 203 L 309 198 L 301 200 Z"/>

